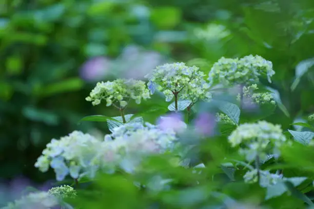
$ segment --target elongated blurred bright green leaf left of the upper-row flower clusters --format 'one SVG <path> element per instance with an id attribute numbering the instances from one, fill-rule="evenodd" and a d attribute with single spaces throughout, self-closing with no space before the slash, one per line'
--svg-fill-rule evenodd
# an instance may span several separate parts
<path id="1" fill-rule="evenodd" d="M 80 78 L 69 78 L 60 82 L 52 83 L 44 87 L 35 89 L 34 94 L 40 97 L 52 96 L 64 92 L 77 91 L 82 89 L 83 80 Z"/>

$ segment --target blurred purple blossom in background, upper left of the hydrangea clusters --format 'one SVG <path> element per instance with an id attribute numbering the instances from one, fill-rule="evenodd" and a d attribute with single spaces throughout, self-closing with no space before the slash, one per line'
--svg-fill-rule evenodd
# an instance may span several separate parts
<path id="1" fill-rule="evenodd" d="M 94 57 L 85 62 L 81 68 L 81 77 L 86 81 L 99 81 L 110 72 L 111 60 L 107 57 Z"/>

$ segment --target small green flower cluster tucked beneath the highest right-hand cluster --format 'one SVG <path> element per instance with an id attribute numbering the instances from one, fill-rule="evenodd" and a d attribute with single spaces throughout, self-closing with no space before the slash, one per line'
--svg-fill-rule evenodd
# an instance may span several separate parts
<path id="1" fill-rule="evenodd" d="M 243 87 L 242 89 L 243 98 L 246 98 L 246 100 L 250 101 L 250 103 L 260 103 L 260 104 L 271 103 L 272 105 L 276 104 L 273 96 L 269 92 L 253 93 L 255 90 L 258 90 L 258 89 L 259 88 L 256 83 L 248 87 Z M 238 94 L 237 99 L 239 101 L 241 100 L 240 93 Z"/>

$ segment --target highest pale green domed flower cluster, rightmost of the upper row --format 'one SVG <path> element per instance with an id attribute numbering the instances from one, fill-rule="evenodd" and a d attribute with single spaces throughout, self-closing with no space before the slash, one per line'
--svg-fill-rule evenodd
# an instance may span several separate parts
<path id="1" fill-rule="evenodd" d="M 225 86 L 234 84 L 252 84 L 259 82 L 259 76 L 270 77 L 274 75 L 272 62 L 256 55 L 239 58 L 220 58 L 209 72 L 209 83 L 221 83 Z"/>

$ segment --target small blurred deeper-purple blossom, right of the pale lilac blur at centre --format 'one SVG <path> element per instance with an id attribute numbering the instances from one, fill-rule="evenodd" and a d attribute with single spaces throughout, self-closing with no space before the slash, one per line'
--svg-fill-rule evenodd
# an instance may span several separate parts
<path id="1" fill-rule="evenodd" d="M 199 134 L 211 136 L 216 126 L 215 116 L 210 113 L 201 113 L 194 120 L 194 126 Z"/>

